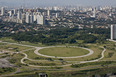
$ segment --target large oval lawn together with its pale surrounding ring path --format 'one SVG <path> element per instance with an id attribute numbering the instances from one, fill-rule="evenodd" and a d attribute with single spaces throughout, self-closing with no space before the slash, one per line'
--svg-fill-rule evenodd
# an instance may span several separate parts
<path id="1" fill-rule="evenodd" d="M 52 46 L 37 48 L 35 54 L 49 58 L 81 58 L 92 55 L 94 52 L 91 49 L 76 47 L 76 46 Z"/>

